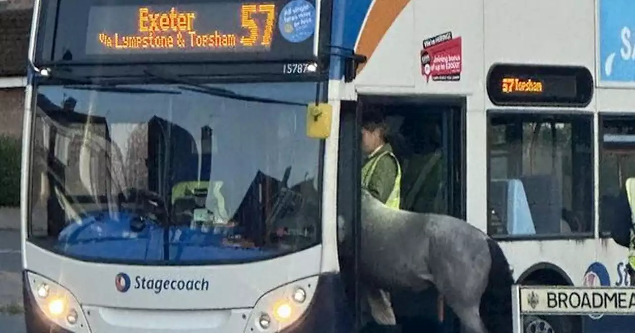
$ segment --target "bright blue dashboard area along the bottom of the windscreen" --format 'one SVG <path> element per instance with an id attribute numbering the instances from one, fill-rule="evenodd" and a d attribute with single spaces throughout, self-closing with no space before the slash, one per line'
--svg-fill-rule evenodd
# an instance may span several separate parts
<path id="1" fill-rule="evenodd" d="M 113 216 L 92 212 L 67 225 L 58 236 L 57 250 L 79 258 L 100 260 L 157 261 L 164 259 L 168 238 L 170 261 L 241 261 L 271 257 L 277 251 L 224 245 L 231 228 L 204 232 L 201 228 L 170 226 L 147 221 L 140 232 L 131 230 L 134 214 L 121 211 Z"/>

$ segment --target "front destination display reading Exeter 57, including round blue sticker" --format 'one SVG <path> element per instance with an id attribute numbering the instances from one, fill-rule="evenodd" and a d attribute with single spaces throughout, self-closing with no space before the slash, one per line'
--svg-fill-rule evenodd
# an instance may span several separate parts
<path id="1" fill-rule="evenodd" d="M 276 38 L 299 43 L 313 36 L 311 3 L 293 0 L 280 7 L 279 1 L 93 6 L 85 51 L 86 55 L 269 52 Z"/>

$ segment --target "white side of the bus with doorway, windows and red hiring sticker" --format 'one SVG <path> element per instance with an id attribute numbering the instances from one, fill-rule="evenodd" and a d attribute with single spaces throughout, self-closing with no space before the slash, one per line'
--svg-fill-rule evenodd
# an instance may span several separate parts
<path id="1" fill-rule="evenodd" d="M 360 32 L 342 42 L 368 61 L 354 81 L 331 81 L 330 98 L 353 101 L 342 102 L 340 119 L 379 104 L 398 134 L 412 138 L 416 127 L 422 155 L 440 152 L 445 165 L 445 187 L 427 202 L 440 196 L 441 212 L 497 239 L 516 284 L 629 285 L 627 250 L 610 238 L 610 223 L 635 175 L 633 6 L 372 1 L 358 21 L 347 16 L 357 11 L 344 14 Z M 628 317 L 525 318 L 526 332 L 632 325 Z"/>

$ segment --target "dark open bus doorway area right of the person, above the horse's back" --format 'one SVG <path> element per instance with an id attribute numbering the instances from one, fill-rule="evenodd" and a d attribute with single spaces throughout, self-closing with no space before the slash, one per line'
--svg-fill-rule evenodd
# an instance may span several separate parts
<path id="1" fill-rule="evenodd" d="M 464 218 L 462 108 L 367 103 L 362 117 L 377 110 L 401 168 L 400 209 Z"/>

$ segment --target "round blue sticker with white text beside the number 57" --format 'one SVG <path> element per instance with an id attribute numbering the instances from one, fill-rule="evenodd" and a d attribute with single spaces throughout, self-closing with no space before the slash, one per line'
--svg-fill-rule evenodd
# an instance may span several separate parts
<path id="1" fill-rule="evenodd" d="M 278 18 L 280 33 L 290 42 L 304 42 L 316 29 L 316 9 L 306 0 L 292 0 Z"/>

